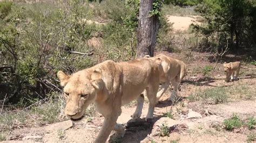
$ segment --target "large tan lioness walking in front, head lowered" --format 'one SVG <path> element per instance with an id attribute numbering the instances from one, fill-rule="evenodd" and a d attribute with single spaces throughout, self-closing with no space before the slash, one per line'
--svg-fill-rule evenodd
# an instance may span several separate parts
<path id="1" fill-rule="evenodd" d="M 104 116 L 103 126 L 95 142 L 105 142 L 112 130 L 124 135 L 124 127 L 116 123 L 122 112 L 121 106 L 137 99 L 137 108 L 132 117 L 139 118 L 144 102 L 144 96 L 140 94 L 144 89 L 150 102 L 146 119 L 153 118 L 159 71 L 152 60 L 119 63 L 107 60 L 72 75 L 58 71 L 57 76 L 64 87 L 65 115 L 68 118 L 73 121 L 82 119 L 83 111 L 93 102 Z"/>

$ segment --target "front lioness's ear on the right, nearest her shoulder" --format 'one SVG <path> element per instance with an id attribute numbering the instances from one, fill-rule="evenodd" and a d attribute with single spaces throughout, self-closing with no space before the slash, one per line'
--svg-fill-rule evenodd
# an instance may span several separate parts
<path id="1" fill-rule="evenodd" d="M 102 70 L 95 69 L 91 74 L 91 83 L 94 88 L 101 90 L 104 87 L 104 82 L 102 80 Z"/>

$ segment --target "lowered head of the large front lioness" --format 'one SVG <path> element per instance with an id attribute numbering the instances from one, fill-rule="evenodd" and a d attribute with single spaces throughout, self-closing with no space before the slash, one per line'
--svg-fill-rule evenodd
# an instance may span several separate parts
<path id="1" fill-rule="evenodd" d="M 80 70 L 72 75 L 58 71 L 57 76 L 64 87 L 65 115 L 71 120 L 82 119 L 83 111 L 95 101 L 97 93 L 104 87 L 101 70 L 92 73 Z"/>

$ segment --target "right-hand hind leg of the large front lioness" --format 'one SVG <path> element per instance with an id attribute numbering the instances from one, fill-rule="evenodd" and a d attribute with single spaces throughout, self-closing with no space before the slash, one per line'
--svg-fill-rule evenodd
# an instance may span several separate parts
<path id="1" fill-rule="evenodd" d="M 146 88 L 147 98 L 149 99 L 149 109 L 147 111 L 147 116 L 145 118 L 146 121 L 147 119 L 153 118 L 154 106 L 156 105 L 156 101 L 157 101 L 157 96 L 156 96 L 157 90 L 158 90 L 158 85 Z"/>

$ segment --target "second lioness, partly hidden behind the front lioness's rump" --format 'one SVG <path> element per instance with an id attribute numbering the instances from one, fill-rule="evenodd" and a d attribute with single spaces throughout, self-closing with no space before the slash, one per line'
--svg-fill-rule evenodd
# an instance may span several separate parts
<path id="1" fill-rule="evenodd" d="M 149 55 L 145 55 L 144 58 L 149 58 Z M 169 100 L 174 101 L 177 96 L 177 89 L 181 90 L 180 82 L 186 75 L 186 64 L 165 54 L 159 54 L 149 59 L 155 61 L 159 66 L 161 87 L 157 92 L 157 99 L 159 100 L 163 96 L 171 82 L 173 91 Z"/>

